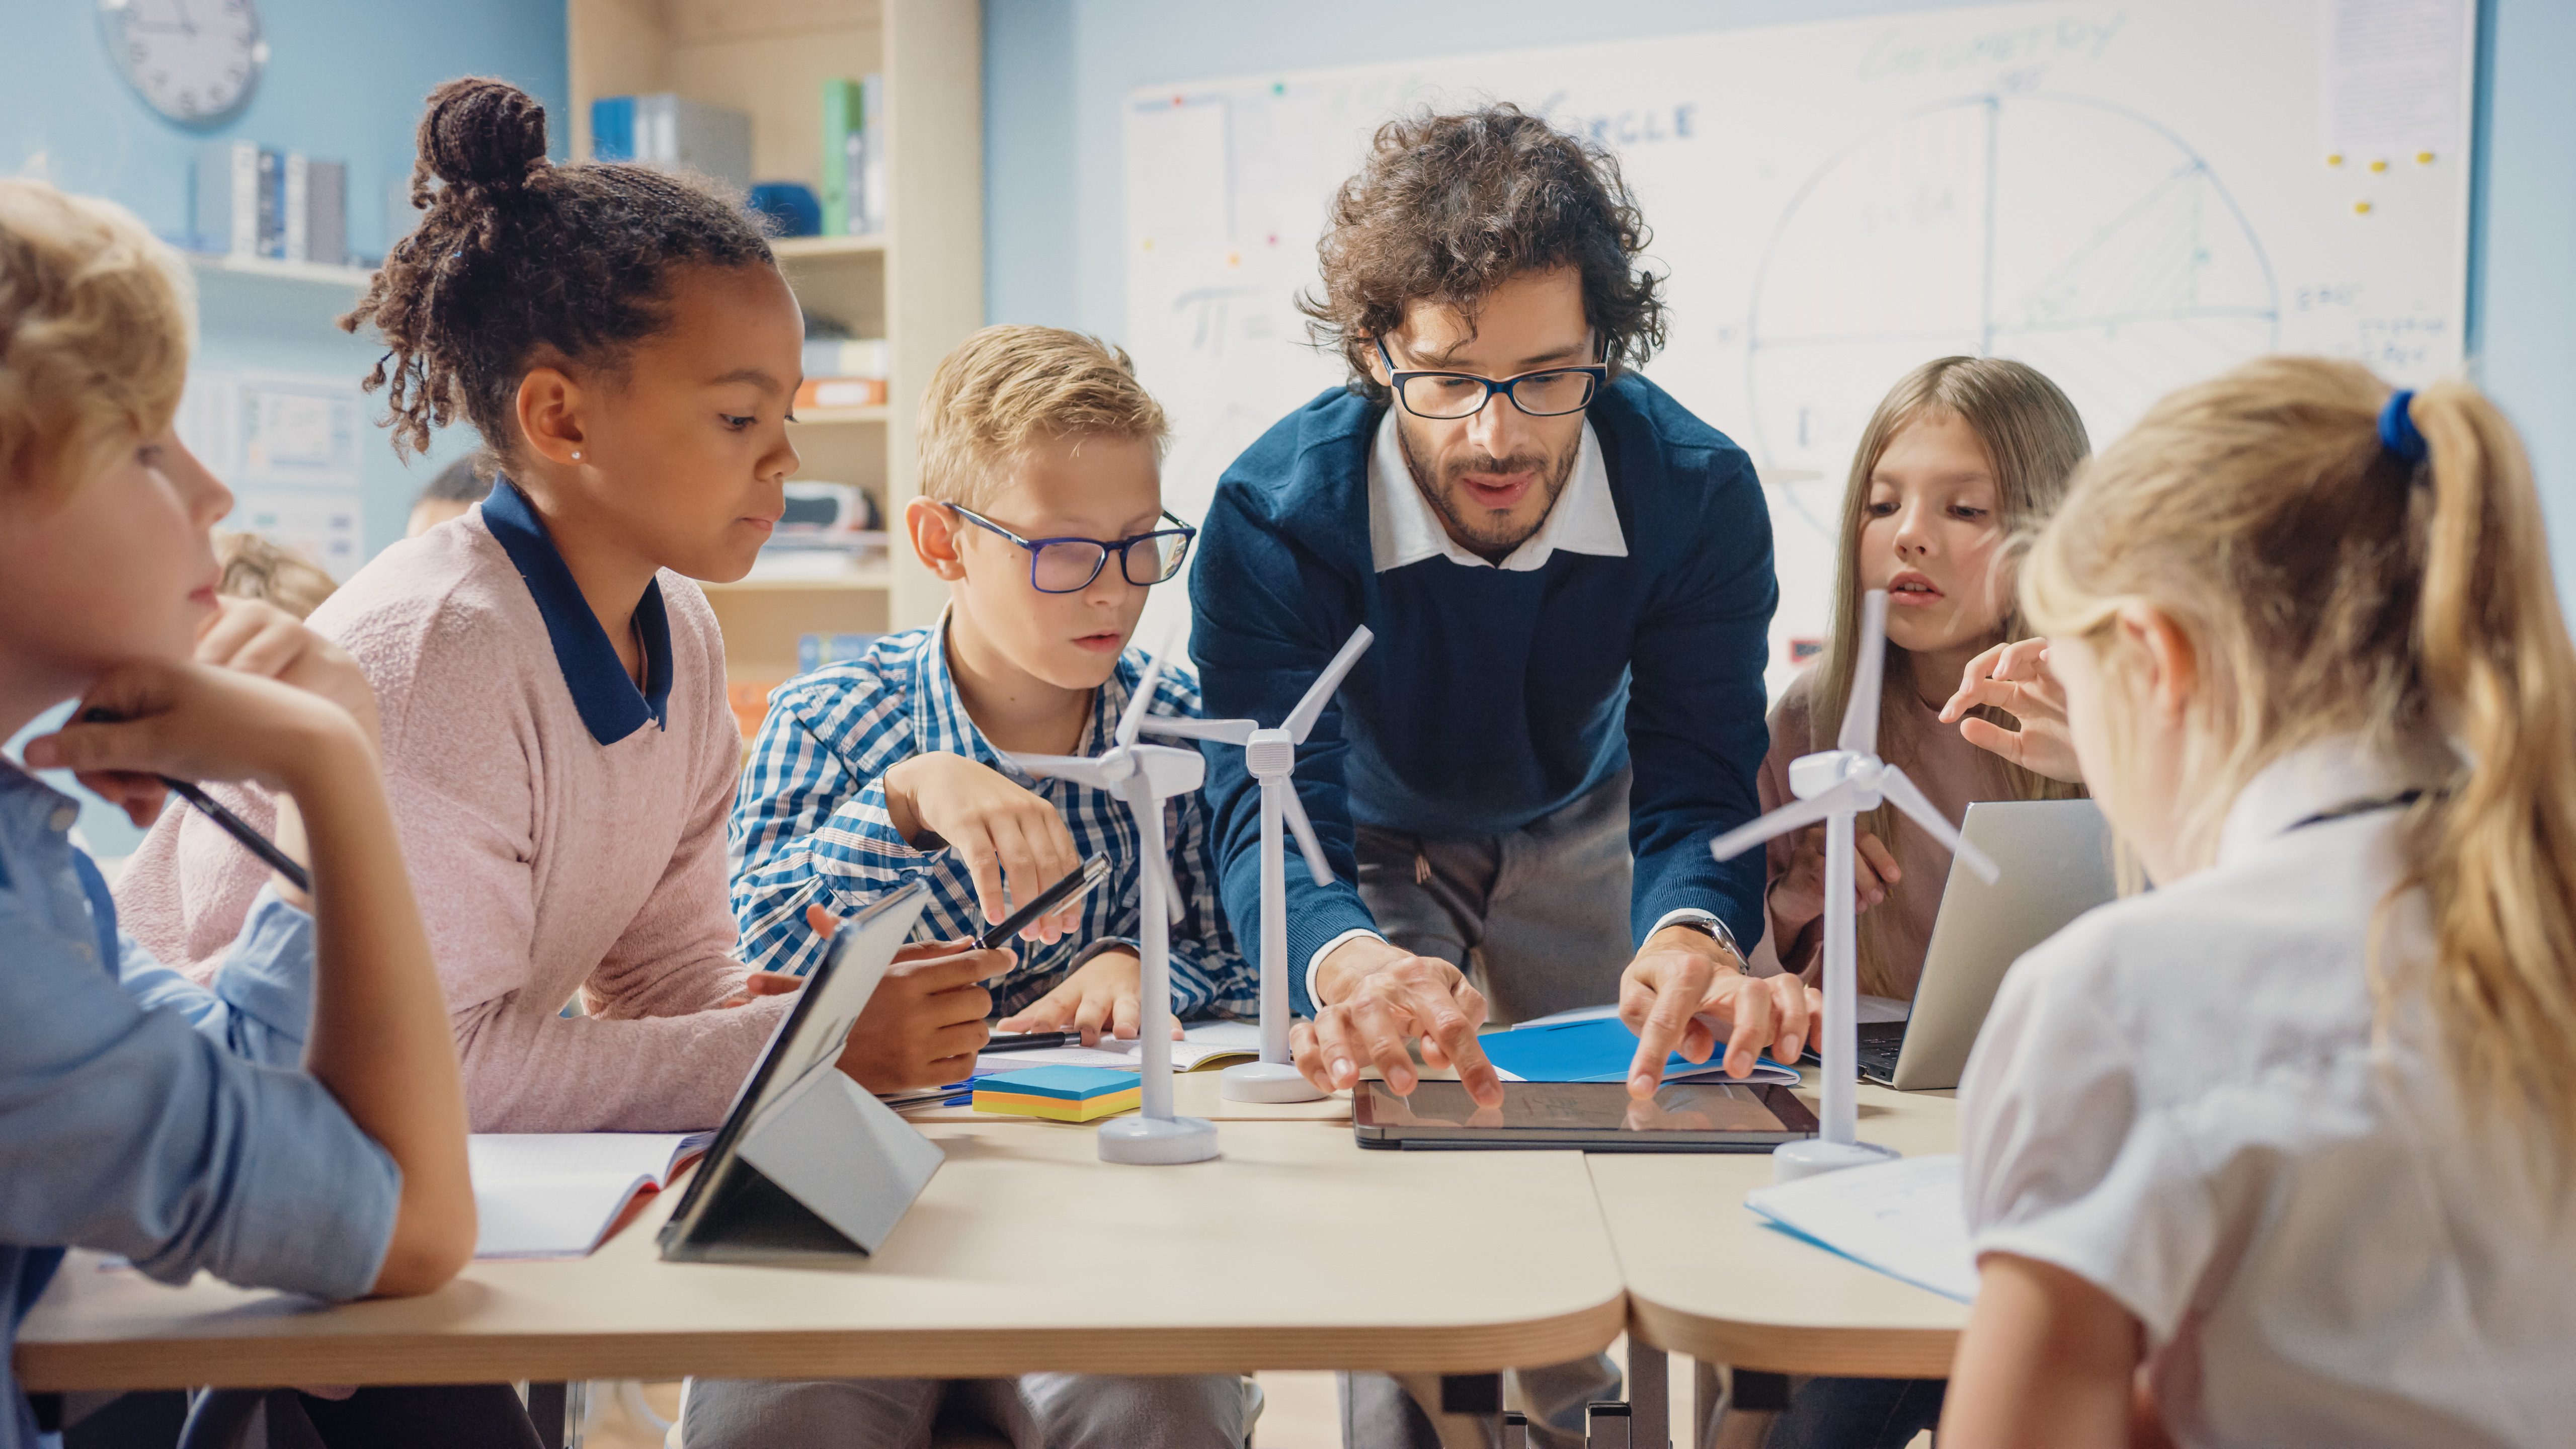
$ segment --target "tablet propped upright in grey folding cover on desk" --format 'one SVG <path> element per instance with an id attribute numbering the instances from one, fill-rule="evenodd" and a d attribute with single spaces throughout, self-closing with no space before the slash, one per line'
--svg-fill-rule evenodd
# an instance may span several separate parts
<path id="1" fill-rule="evenodd" d="M 829 1263 L 873 1253 L 940 1165 L 940 1150 L 840 1075 L 840 1049 L 930 890 L 896 890 L 845 920 L 742 1078 L 724 1127 L 662 1225 L 662 1256 L 703 1263 Z"/>

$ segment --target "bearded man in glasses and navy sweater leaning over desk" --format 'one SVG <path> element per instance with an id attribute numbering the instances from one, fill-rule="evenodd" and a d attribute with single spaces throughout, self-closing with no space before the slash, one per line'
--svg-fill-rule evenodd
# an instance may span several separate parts
<path id="1" fill-rule="evenodd" d="M 1749 1070 L 1795 1060 L 1821 1006 L 1744 975 L 1762 861 L 1708 853 L 1759 812 L 1777 590 L 1744 451 L 1631 371 L 1664 340 L 1643 245 L 1618 162 L 1535 116 L 1383 126 L 1303 299 L 1352 382 L 1218 482 L 1190 578 L 1208 714 L 1278 722 L 1352 627 L 1378 634 L 1296 763 L 1342 874 L 1288 871 L 1319 1088 L 1412 1091 L 1414 1042 L 1497 1104 L 1479 1024 L 1613 1000 L 1641 1060 Z M 1208 797 L 1252 931 L 1236 750 L 1208 750 Z M 1352 1377 L 1350 1441 L 1427 1444 L 1383 1385 Z M 1602 1387 L 1589 1361 L 1525 1372 L 1533 1441 L 1579 1444 Z"/>

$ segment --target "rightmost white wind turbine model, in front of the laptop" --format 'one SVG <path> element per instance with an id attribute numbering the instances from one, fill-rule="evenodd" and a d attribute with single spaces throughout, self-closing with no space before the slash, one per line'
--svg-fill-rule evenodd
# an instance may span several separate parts
<path id="1" fill-rule="evenodd" d="M 1824 1039 L 1824 1129 L 1808 1142 L 1785 1142 L 1772 1152 L 1772 1178 L 1783 1183 L 1896 1158 L 1891 1147 L 1860 1142 L 1852 1101 L 1860 1057 L 1860 1031 L 1852 1016 L 1860 1006 L 1860 990 L 1852 980 L 1852 820 L 1878 810 L 1880 799 L 1891 799 L 1989 884 L 2002 874 L 1984 851 L 1942 820 L 1942 812 L 1904 771 L 1878 758 L 1878 688 L 1886 676 L 1886 645 L 1888 596 L 1873 588 L 1860 601 L 1860 660 L 1852 668 L 1852 701 L 1842 709 L 1842 735 L 1834 748 L 1790 761 L 1788 789 L 1798 797 L 1795 804 L 1783 804 L 1708 843 L 1710 853 L 1728 861 L 1772 835 L 1788 835 L 1824 820 L 1824 1026 L 1819 1031 Z"/>

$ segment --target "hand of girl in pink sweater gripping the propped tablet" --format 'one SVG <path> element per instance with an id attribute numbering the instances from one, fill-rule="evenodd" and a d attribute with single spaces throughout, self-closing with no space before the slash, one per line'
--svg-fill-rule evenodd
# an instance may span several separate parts
<path id="1" fill-rule="evenodd" d="M 806 926 L 824 938 L 840 931 L 840 920 L 819 905 L 806 908 Z M 966 941 L 912 941 L 896 949 L 886 980 L 876 982 L 858 1026 L 850 1026 L 840 1075 L 868 1091 L 966 1080 L 989 1036 L 984 1013 L 992 1011 L 992 993 L 981 982 L 1010 964 L 1010 951 L 971 951 Z M 773 995 L 775 977 L 778 972 L 752 972 L 744 990 Z"/>

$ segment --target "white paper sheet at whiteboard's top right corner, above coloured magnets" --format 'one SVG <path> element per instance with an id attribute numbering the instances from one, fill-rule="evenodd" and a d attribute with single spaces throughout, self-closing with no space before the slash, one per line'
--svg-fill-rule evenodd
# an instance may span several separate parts
<path id="1" fill-rule="evenodd" d="M 2468 0 L 2334 0 L 2326 13 L 2326 150 L 2414 165 L 2460 150 Z"/>

